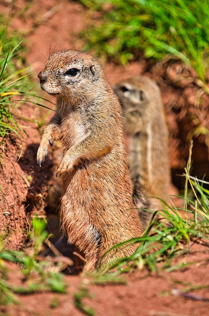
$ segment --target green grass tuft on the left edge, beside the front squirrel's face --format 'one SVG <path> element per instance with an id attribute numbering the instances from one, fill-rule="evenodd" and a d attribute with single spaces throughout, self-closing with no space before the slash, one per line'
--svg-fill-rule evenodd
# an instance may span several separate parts
<path id="1" fill-rule="evenodd" d="M 3 144 L 7 142 L 5 137 L 11 134 L 18 136 L 22 142 L 24 131 L 18 124 L 18 109 L 22 102 L 50 109 L 37 102 L 37 98 L 48 100 L 33 92 L 34 84 L 30 81 L 29 69 L 23 63 L 26 48 L 20 36 L 7 32 L 8 25 L 2 16 L 0 22 L 0 144 Z M 43 125 L 44 119 L 36 122 L 38 127 Z"/>

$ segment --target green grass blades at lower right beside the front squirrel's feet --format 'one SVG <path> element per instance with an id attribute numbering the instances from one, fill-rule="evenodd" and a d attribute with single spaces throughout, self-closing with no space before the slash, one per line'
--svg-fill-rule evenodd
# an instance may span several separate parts
<path id="1" fill-rule="evenodd" d="M 198 180 L 189 175 L 191 170 L 190 146 L 189 159 L 185 168 L 185 193 L 179 196 L 184 203 L 183 208 L 176 208 L 164 203 L 164 209 L 153 214 L 149 227 L 142 237 L 122 242 L 140 243 L 136 251 L 129 257 L 111 262 L 105 271 L 117 269 L 119 273 L 134 269 L 147 268 L 149 271 L 160 269 L 171 271 L 181 266 L 172 267 L 172 259 L 177 255 L 189 252 L 190 243 L 198 239 L 209 240 L 209 190 L 203 187 L 208 182 Z M 193 192 L 193 198 L 190 198 Z M 156 215 L 158 218 L 156 219 Z M 163 221 L 162 221 L 163 220 Z M 111 250 L 111 249 L 110 249 Z M 185 267 L 182 264 L 182 267 Z"/>

